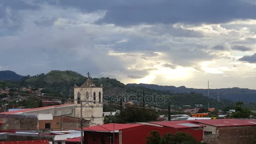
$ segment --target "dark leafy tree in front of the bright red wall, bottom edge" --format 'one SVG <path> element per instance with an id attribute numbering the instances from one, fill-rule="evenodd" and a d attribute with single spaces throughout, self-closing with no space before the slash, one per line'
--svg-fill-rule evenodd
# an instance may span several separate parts
<path id="1" fill-rule="evenodd" d="M 165 133 L 163 137 L 160 136 L 158 131 L 152 131 L 146 137 L 148 139 L 147 144 L 203 144 L 200 141 L 196 141 L 193 136 L 188 133 L 179 131 L 174 135 L 172 133 Z"/>

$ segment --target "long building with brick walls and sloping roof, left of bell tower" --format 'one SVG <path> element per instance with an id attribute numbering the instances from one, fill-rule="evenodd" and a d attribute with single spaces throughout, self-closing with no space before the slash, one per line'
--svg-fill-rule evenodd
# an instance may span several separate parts
<path id="1" fill-rule="evenodd" d="M 45 119 L 46 117 L 43 115 L 51 115 L 51 119 Z M 12 120 L 11 117 L 19 117 L 19 123 L 16 122 L 14 125 L 14 120 Z M 38 117 L 42 119 L 39 119 Z M 21 119 L 24 120 L 24 123 Z M 4 123 L 2 128 L 0 126 L 0 130 L 31 130 L 26 123 L 33 125 L 33 129 L 39 131 L 39 133 L 50 133 L 50 131 L 74 130 L 80 128 L 80 118 L 75 117 L 74 104 L 62 104 L 2 112 L 0 113 L 0 120 L 8 122 Z M 88 123 L 85 125 L 87 124 Z M 23 127 L 19 128 L 19 126 Z"/>

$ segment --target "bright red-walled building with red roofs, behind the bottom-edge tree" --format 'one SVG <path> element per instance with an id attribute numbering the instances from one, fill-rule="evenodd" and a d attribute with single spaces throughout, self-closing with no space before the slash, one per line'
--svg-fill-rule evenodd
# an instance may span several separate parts
<path id="1" fill-rule="evenodd" d="M 197 141 L 203 141 L 203 125 L 185 121 L 163 121 L 149 123 L 108 123 L 83 128 L 84 144 L 145 144 L 148 133 L 157 130 L 161 136 L 165 133 L 184 131 Z M 114 139 L 115 137 L 115 139 Z"/>

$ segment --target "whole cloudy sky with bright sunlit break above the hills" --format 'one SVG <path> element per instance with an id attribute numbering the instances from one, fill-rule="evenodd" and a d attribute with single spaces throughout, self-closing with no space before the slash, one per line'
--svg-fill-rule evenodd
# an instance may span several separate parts
<path id="1" fill-rule="evenodd" d="M 1 0 L 0 70 L 256 89 L 255 0 Z"/>

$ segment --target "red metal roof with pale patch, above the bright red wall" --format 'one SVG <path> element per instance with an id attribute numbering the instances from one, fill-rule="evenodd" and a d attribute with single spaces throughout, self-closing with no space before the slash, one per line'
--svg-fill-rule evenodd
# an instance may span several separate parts
<path id="1" fill-rule="evenodd" d="M 160 122 L 149 122 L 157 125 L 163 125 L 171 128 L 200 128 L 204 125 L 197 125 L 195 123 L 188 122 L 186 120 L 176 120 L 176 121 L 160 121 Z"/>

